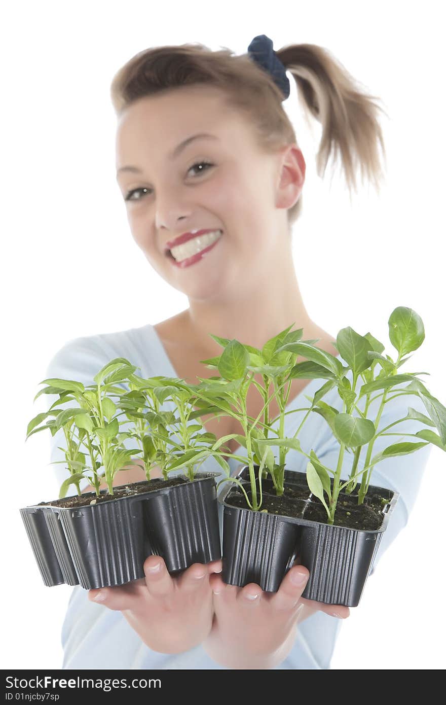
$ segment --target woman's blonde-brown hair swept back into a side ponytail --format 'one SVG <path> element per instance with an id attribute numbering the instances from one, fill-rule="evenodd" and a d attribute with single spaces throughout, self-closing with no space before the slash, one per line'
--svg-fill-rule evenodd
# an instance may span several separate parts
<path id="1" fill-rule="evenodd" d="M 291 44 L 275 51 L 290 71 L 302 97 L 306 117 L 322 125 L 316 170 L 323 177 L 330 154 L 340 155 L 347 187 L 357 190 L 357 171 L 379 192 L 378 145 L 385 159 L 383 134 L 378 123 L 376 97 L 359 90 L 354 78 L 315 44 Z M 283 94 L 271 75 L 249 54 L 237 56 L 230 49 L 212 51 L 203 44 L 145 49 L 119 69 L 111 82 L 111 102 L 117 116 L 137 99 L 185 85 L 218 87 L 229 106 L 240 110 L 252 124 L 260 149 L 273 153 L 297 143 L 295 130 L 283 109 Z M 385 112 L 385 111 L 383 111 Z M 288 209 L 292 226 L 302 211 L 302 195 Z"/>

